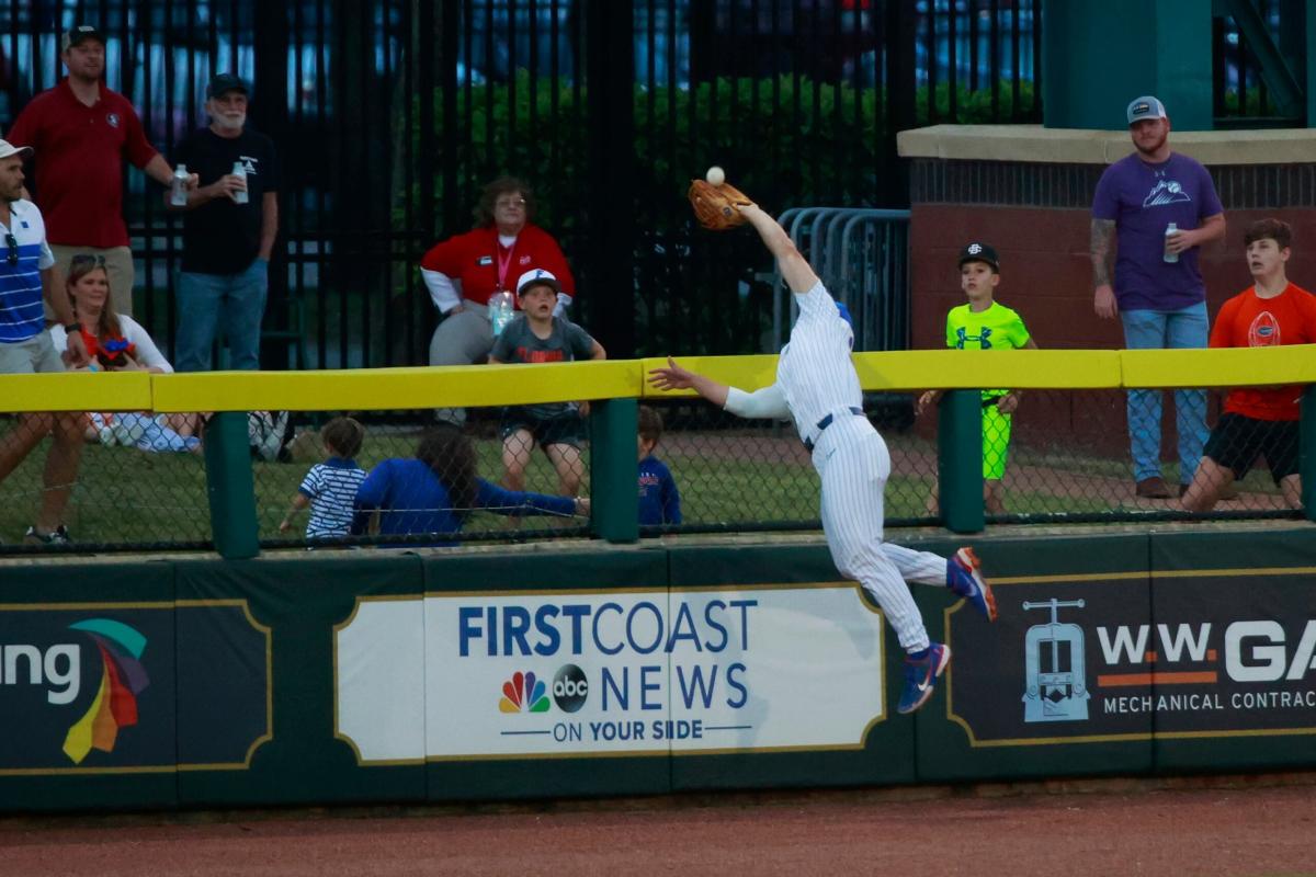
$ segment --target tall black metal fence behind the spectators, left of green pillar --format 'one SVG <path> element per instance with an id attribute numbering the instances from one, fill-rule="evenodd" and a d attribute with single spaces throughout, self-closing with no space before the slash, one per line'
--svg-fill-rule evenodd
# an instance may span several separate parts
<path id="1" fill-rule="evenodd" d="M 776 212 L 903 206 L 896 130 L 1040 120 L 1040 5 L 7 0 L 0 126 L 62 76 L 76 22 L 103 29 L 107 83 L 166 155 L 205 124 L 212 72 L 247 78 L 283 163 L 270 368 L 425 362 L 437 314 L 416 263 L 503 172 L 536 185 L 576 318 L 612 355 L 751 352 L 771 329 L 762 254 L 694 233 L 688 178 L 720 163 Z M 170 350 L 179 229 L 125 176 L 136 313 Z"/>

